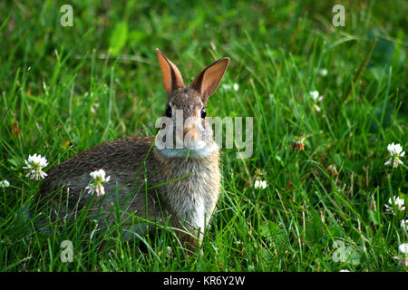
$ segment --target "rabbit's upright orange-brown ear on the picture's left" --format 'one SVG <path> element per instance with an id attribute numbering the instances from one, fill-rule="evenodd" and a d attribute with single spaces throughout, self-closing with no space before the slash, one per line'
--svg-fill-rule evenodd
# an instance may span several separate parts
<path id="1" fill-rule="evenodd" d="M 166 90 L 168 96 L 170 96 L 172 91 L 185 87 L 183 77 L 176 64 L 171 63 L 159 49 L 156 49 L 156 52 L 159 58 L 161 73 L 163 75 L 164 90 Z"/>

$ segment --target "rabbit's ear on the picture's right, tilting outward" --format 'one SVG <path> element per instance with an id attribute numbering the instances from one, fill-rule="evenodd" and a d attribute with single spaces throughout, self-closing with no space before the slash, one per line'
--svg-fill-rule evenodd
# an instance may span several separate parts
<path id="1" fill-rule="evenodd" d="M 227 71 L 229 58 L 224 57 L 215 63 L 212 63 L 196 77 L 190 87 L 201 92 L 203 102 L 207 102 L 209 96 L 219 87 L 222 76 Z"/>

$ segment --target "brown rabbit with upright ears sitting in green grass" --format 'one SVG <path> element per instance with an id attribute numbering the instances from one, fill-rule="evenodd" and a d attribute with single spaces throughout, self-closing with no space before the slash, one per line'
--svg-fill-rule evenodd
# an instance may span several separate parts
<path id="1" fill-rule="evenodd" d="M 202 243 L 219 200 L 219 146 L 206 119 L 206 106 L 219 87 L 229 58 L 210 64 L 186 87 L 177 66 L 159 49 L 156 52 L 167 93 L 164 115 L 170 121 L 181 117 L 183 121 L 193 120 L 181 131 L 176 131 L 176 122 L 170 124 L 173 128 L 166 128 L 166 124 L 159 131 L 173 130 L 181 146 L 162 148 L 154 136 L 128 137 L 83 150 L 48 172 L 40 188 L 40 204 L 60 205 L 53 210 L 53 218 L 70 218 L 85 210 L 94 198 L 87 215 L 101 218 L 98 214 L 112 212 L 119 202 L 122 231 L 127 237 L 133 232 L 146 233 L 151 228 L 146 219 L 162 223 L 169 218 L 170 226 L 178 229 L 182 246 L 194 251 Z M 185 140 L 188 134 L 190 138 Z M 98 169 L 110 177 L 102 197 L 85 190 L 92 181 L 90 172 Z M 107 216 L 112 225 L 115 218 Z"/>

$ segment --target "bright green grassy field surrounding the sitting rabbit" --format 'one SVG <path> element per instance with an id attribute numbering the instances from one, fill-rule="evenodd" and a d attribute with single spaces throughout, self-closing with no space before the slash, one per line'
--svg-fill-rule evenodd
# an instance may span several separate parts
<path id="1" fill-rule="evenodd" d="M 65 4 L 73 26 L 61 24 Z M 336 4 L 345 26 L 332 23 Z M 408 149 L 407 11 L 403 0 L 2 1 L 0 269 L 406 271 L 395 256 L 408 211 L 385 205 L 408 206 L 407 161 L 384 163 L 388 144 Z M 131 242 L 117 228 L 92 236 L 84 218 L 36 231 L 26 208 L 41 181 L 25 177 L 24 160 L 42 154 L 46 172 L 103 141 L 155 134 L 156 48 L 187 83 L 228 56 L 208 114 L 254 118 L 252 157 L 222 151 L 204 255 L 183 258 L 166 229 Z"/>

